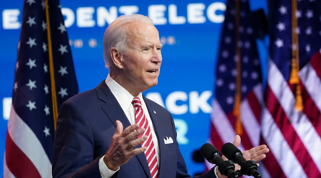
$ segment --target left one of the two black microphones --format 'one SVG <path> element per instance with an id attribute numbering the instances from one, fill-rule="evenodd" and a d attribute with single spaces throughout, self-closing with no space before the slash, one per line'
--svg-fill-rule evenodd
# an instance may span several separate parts
<path id="1" fill-rule="evenodd" d="M 234 172 L 235 165 L 232 161 L 224 161 L 221 157 L 220 152 L 216 147 L 211 145 L 210 143 L 205 143 L 201 147 L 201 154 L 209 163 L 216 164 L 219 167 L 219 171 L 222 175 L 226 175 L 229 178 L 239 177 L 238 171 Z M 242 175 L 242 174 L 241 174 Z"/>

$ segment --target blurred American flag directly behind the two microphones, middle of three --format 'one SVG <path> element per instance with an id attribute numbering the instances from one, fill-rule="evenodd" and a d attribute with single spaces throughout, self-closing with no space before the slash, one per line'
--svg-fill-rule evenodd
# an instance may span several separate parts
<path id="1" fill-rule="evenodd" d="M 232 142 L 236 134 L 241 137 L 239 149 L 242 151 L 259 145 L 262 78 L 249 13 L 248 1 L 227 1 L 218 52 L 209 139 L 209 143 L 219 150 L 224 143 Z M 239 104 L 237 96 L 240 97 Z M 207 161 L 205 164 L 206 169 L 213 166 Z"/>

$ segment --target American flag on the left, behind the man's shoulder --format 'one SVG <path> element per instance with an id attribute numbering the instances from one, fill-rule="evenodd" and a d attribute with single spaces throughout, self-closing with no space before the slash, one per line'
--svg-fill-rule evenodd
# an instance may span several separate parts
<path id="1" fill-rule="evenodd" d="M 4 177 L 52 177 L 57 112 L 78 93 L 59 1 L 24 2 Z"/>

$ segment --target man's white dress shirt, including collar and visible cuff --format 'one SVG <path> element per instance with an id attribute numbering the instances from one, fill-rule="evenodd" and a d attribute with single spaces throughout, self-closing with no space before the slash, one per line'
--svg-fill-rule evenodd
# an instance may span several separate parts
<path id="1" fill-rule="evenodd" d="M 158 147 L 158 141 L 157 141 L 157 137 L 154 131 L 154 126 L 152 125 L 152 121 L 150 119 L 145 101 L 143 99 L 143 95 L 142 93 L 140 93 L 138 96 L 132 96 L 124 87 L 122 87 L 120 84 L 118 84 L 110 75 L 107 76 L 106 80 L 105 80 L 107 86 L 110 88 L 111 92 L 113 93 L 113 95 L 115 96 L 116 100 L 118 101 L 120 107 L 123 109 L 125 115 L 127 116 L 130 124 L 135 124 L 136 120 L 135 120 L 135 110 L 134 107 L 131 103 L 132 99 L 134 97 L 138 97 L 141 100 L 142 103 L 142 108 L 144 110 L 144 114 L 148 120 L 148 124 L 151 130 L 151 134 L 152 134 L 152 139 L 154 142 L 154 146 L 155 146 L 155 152 L 156 152 L 156 158 L 157 158 L 157 164 L 159 166 L 159 147 Z M 124 128 L 125 129 L 125 128 Z M 102 178 L 110 178 L 111 176 L 114 175 L 114 173 L 116 173 L 118 170 L 113 171 L 110 170 L 105 163 L 103 162 L 103 157 L 101 157 L 99 159 L 99 171 L 100 171 L 100 175 Z"/>

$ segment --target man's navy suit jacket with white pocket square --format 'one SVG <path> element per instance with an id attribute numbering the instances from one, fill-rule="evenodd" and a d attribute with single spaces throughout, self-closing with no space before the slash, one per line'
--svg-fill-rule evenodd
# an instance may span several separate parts
<path id="1" fill-rule="evenodd" d="M 159 145 L 158 177 L 190 177 L 176 141 L 172 115 L 144 97 Z M 155 113 L 154 113 L 155 111 Z M 116 120 L 130 125 L 115 96 L 103 80 L 97 87 L 77 94 L 60 108 L 53 145 L 53 177 L 101 177 L 99 158 L 108 151 Z M 164 138 L 174 142 L 165 144 Z M 137 147 L 141 147 L 138 145 Z M 151 177 L 145 154 L 133 156 L 113 177 Z M 199 177 L 215 177 L 213 170 Z"/>

